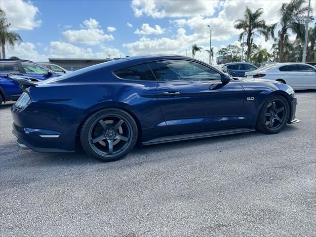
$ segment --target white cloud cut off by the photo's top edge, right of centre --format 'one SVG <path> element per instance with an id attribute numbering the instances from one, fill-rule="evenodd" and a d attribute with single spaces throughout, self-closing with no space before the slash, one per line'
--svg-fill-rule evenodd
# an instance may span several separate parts
<path id="1" fill-rule="evenodd" d="M 190 17 L 211 16 L 219 6 L 219 0 L 133 0 L 131 7 L 136 17 Z"/>

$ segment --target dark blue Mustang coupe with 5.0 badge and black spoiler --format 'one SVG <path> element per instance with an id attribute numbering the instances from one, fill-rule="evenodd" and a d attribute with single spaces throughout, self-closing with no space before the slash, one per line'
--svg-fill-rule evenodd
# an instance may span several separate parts
<path id="1" fill-rule="evenodd" d="M 293 89 L 232 79 L 194 58 L 128 57 L 36 83 L 12 75 L 24 93 L 12 106 L 18 144 L 113 161 L 135 146 L 250 131 L 277 133 L 295 118 Z"/>

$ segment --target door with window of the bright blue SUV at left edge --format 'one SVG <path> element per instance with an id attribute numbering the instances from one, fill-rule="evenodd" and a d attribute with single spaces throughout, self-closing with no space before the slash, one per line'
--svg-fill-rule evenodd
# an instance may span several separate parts
<path id="1" fill-rule="evenodd" d="M 19 96 L 22 91 L 19 84 L 8 78 L 8 73 L 20 73 L 18 62 L 1 62 L 0 63 L 0 90 L 4 92 L 5 97 Z M 10 99 L 10 98 L 6 98 Z M 15 99 L 15 98 L 14 98 Z"/>

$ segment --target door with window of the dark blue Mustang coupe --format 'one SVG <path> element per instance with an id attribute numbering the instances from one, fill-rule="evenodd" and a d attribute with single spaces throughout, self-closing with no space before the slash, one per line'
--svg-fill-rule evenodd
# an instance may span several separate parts
<path id="1" fill-rule="evenodd" d="M 149 63 L 157 79 L 162 116 L 172 133 L 189 133 L 238 126 L 244 90 L 221 74 L 190 60 Z"/>

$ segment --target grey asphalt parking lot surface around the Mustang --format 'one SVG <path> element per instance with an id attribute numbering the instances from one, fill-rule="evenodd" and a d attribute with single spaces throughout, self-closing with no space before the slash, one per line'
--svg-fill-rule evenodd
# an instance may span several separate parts
<path id="1" fill-rule="evenodd" d="M 258 132 L 136 148 L 102 163 L 20 150 L 0 108 L 0 234 L 316 236 L 316 91 L 297 118 Z"/>

